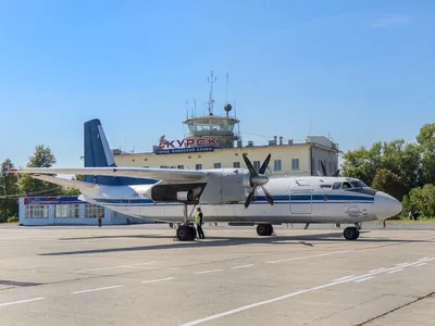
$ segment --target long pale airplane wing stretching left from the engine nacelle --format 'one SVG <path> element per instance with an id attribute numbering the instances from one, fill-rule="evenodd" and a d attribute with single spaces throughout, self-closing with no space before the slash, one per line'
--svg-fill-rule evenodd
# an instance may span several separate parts
<path id="1" fill-rule="evenodd" d="M 146 168 L 146 167 L 18 167 L 10 168 L 9 173 L 22 174 L 78 174 L 123 176 L 136 178 L 162 179 L 165 181 L 198 181 L 207 177 L 207 172 L 201 170 L 177 168 Z"/>

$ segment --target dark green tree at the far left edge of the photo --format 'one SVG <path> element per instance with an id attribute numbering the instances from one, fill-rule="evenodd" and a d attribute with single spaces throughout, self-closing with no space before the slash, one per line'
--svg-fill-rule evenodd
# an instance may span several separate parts
<path id="1" fill-rule="evenodd" d="M 0 167 L 0 222 L 5 222 L 8 217 L 17 216 L 18 203 L 16 199 L 8 198 L 16 196 L 18 177 L 16 174 L 8 174 L 8 170 L 14 167 L 10 159 L 5 159 Z"/>

